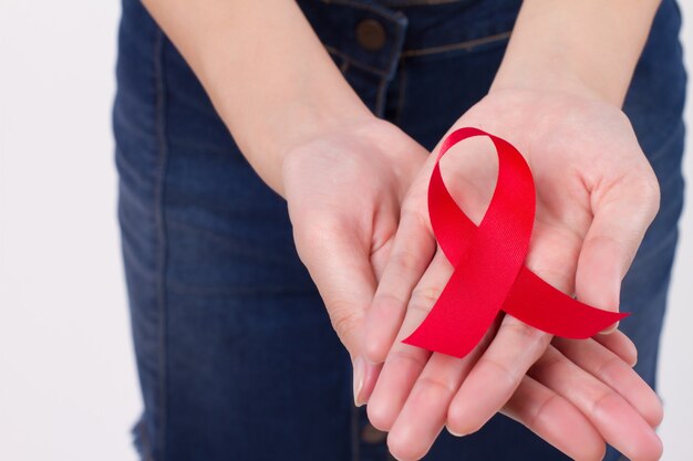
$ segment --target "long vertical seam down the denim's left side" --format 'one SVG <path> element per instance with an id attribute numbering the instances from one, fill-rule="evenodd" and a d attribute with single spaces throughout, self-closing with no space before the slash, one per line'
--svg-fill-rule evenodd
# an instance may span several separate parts
<path id="1" fill-rule="evenodd" d="M 166 417 L 167 417 L 167 357 L 166 357 L 166 231 L 164 222 L 164 193 L 165 174 L 168 158 L 168 146 L 166 144 L 166 85 L 164 82 L 164 32 L 157 29 L 154 50 L 154 72 L 155 72 L 155 129 L 158 147 L 156 159 L 156 186 L 154 197 L 154 216 L 156 224 L 156 300 L 158 310 L 158 395 L 156 405 L 158 421 L 158 443 L 162 460 L 166 459 Z"/>

